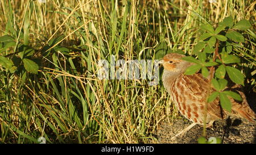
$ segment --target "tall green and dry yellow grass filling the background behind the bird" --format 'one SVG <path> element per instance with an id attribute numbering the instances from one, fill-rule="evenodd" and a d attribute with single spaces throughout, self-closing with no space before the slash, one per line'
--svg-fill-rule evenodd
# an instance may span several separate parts
<path id="1" fill-rule="evenodd" d="M 253 24 L 232 54 L 243 58 L 245 85 L 255 91 L 254 1 L 3 0 L 0 7 L 1 143 L 154 141 L 161 120 L 179 116 L 162 81 L 99 79 L 98 62 L 190 55 L 199 26 L 226 16 Z"/>

